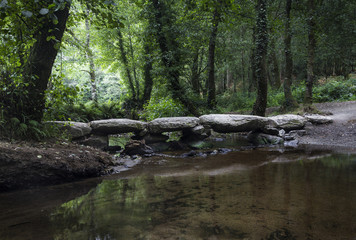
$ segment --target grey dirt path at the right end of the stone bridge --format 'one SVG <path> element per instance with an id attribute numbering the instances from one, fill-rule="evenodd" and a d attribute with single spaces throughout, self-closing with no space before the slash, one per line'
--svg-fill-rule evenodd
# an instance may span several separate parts
<path id="1" fill-rule="evenodd" d="M 332 115 L 332 124 L 308 125 L 301 145 L 356 151 L 356 101 L 317 103 L 316 108 Z"/>

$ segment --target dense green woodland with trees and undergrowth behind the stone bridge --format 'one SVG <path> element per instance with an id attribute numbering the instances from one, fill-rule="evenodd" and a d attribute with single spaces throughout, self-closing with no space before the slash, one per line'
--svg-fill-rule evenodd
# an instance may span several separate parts
<path id="1" fill-rule="evenodd" d="M 0 129 L 356 99 L 356 0 L 0 0 Z"/>

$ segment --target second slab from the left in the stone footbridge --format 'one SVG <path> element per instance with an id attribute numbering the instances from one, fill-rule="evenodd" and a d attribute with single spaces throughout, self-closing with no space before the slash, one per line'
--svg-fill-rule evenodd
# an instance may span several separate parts
<path id="1" fill-rule="evenodd" d="M 108 135 L 135 132 L 139 133 L 147 123 L 131 119 L 106 119 L 90 122 L 90 127 L 96 135 Z"/>

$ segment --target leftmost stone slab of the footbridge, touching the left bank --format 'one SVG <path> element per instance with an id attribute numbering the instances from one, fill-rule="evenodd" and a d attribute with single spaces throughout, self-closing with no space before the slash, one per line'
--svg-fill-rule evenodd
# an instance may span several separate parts
<path id="1" fill-rule="evenodd" d="M 47 124 L 52 124 L 59 127 L 62 131 L 67 131 L 72 139 L 78 139 L 90 135 L 92 129 L 88 123 L 72 122 L 72 121 L 50 121 Z"/>

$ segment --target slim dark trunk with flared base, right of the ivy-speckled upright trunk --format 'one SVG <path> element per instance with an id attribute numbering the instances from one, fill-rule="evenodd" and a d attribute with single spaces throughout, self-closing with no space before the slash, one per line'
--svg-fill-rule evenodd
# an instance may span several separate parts
<path id="1" fill-rule="evenodd" d="M 284 53 L 285 53 L 285 77 L 283 83 L 284 89 L 284 109 L 293 109 L 298 106 L 292 95 L 292 74 L 293 74 L 293 58 L 292 58 L 292 33 L 290 29 L 290 12 L 292 9 L 292 0 L 286 0 L 286 23 L 284 33 Z"/>

